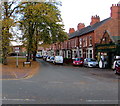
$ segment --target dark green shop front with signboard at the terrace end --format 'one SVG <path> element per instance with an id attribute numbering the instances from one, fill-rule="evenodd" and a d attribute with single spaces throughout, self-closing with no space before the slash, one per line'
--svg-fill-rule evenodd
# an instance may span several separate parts
<path id="1" fill-rule="evenodd" d="M 111 68 L 115 56 L 120 56 L 120 44 L 98 44 L 96 54 L 100 68 Z"/>

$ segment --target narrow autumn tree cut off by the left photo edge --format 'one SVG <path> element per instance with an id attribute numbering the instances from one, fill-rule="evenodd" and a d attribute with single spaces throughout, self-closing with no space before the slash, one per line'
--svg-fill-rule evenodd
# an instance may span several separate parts
<path id="1" fill-rule="evenodd" d="M 18 8 L 17 6 L 13 6 L 16 3 L 15 0 L 12 2 L 0 2 L 1 6 L 1 18 L 0 18 L 0 24 L 1 27 L 1 49 L 2 49 L 2 63 L 7 65 L 7 56 L 9 53 L 9 47 L 10 47 L 10 39 L 12 38 L 12 34 L 10 33 L 10 28 L 15 25 L 14 21 L 14 12 Z"/>

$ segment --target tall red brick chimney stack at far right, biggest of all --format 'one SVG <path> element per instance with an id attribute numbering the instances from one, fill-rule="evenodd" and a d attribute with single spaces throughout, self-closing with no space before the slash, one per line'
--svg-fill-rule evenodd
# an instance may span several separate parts
<path id="1" fill-rule="evenodd" d="M 112 4 L 111 7 L 111 18 L 120 19 L 120 3 Z"/>

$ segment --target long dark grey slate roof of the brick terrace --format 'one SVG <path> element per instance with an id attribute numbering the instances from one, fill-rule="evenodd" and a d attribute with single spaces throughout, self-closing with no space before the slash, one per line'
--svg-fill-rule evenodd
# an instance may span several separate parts
<path id="1" fill-rule="evenodd" d="M 92 31 L 94 31 L 95 29 L 97 29 L 99 26 L 101 26 L 102 24 L 104 24 L 106 21 L 110 20 L 111 18 L 107 18 L 103 21 L 100 21 L 100 22 L 97 22 L 95 23 L 94 25 L 89 25 L 83 29 L 80 29 L 80 30 L 77 30 L 71 34 L 68 34 L 69 35 L 69 39 L 71 38 L 74 38 L 74 37 L 77 37 L 77 36 L 81 36 L 81 35 L 84 35 L 84 34 L 87 34 L 87 33 L 90 33 Z"/>

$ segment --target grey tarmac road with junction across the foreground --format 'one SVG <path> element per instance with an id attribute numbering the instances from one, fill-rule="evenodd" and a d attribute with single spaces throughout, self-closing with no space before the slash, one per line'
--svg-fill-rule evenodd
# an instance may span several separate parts
<path id="1" fill-rule="evenodd" d="M 3 104 L 118 104 L 120 76 L 111 70 L 38 62 L 32 78 L 2 81 Z"/>

